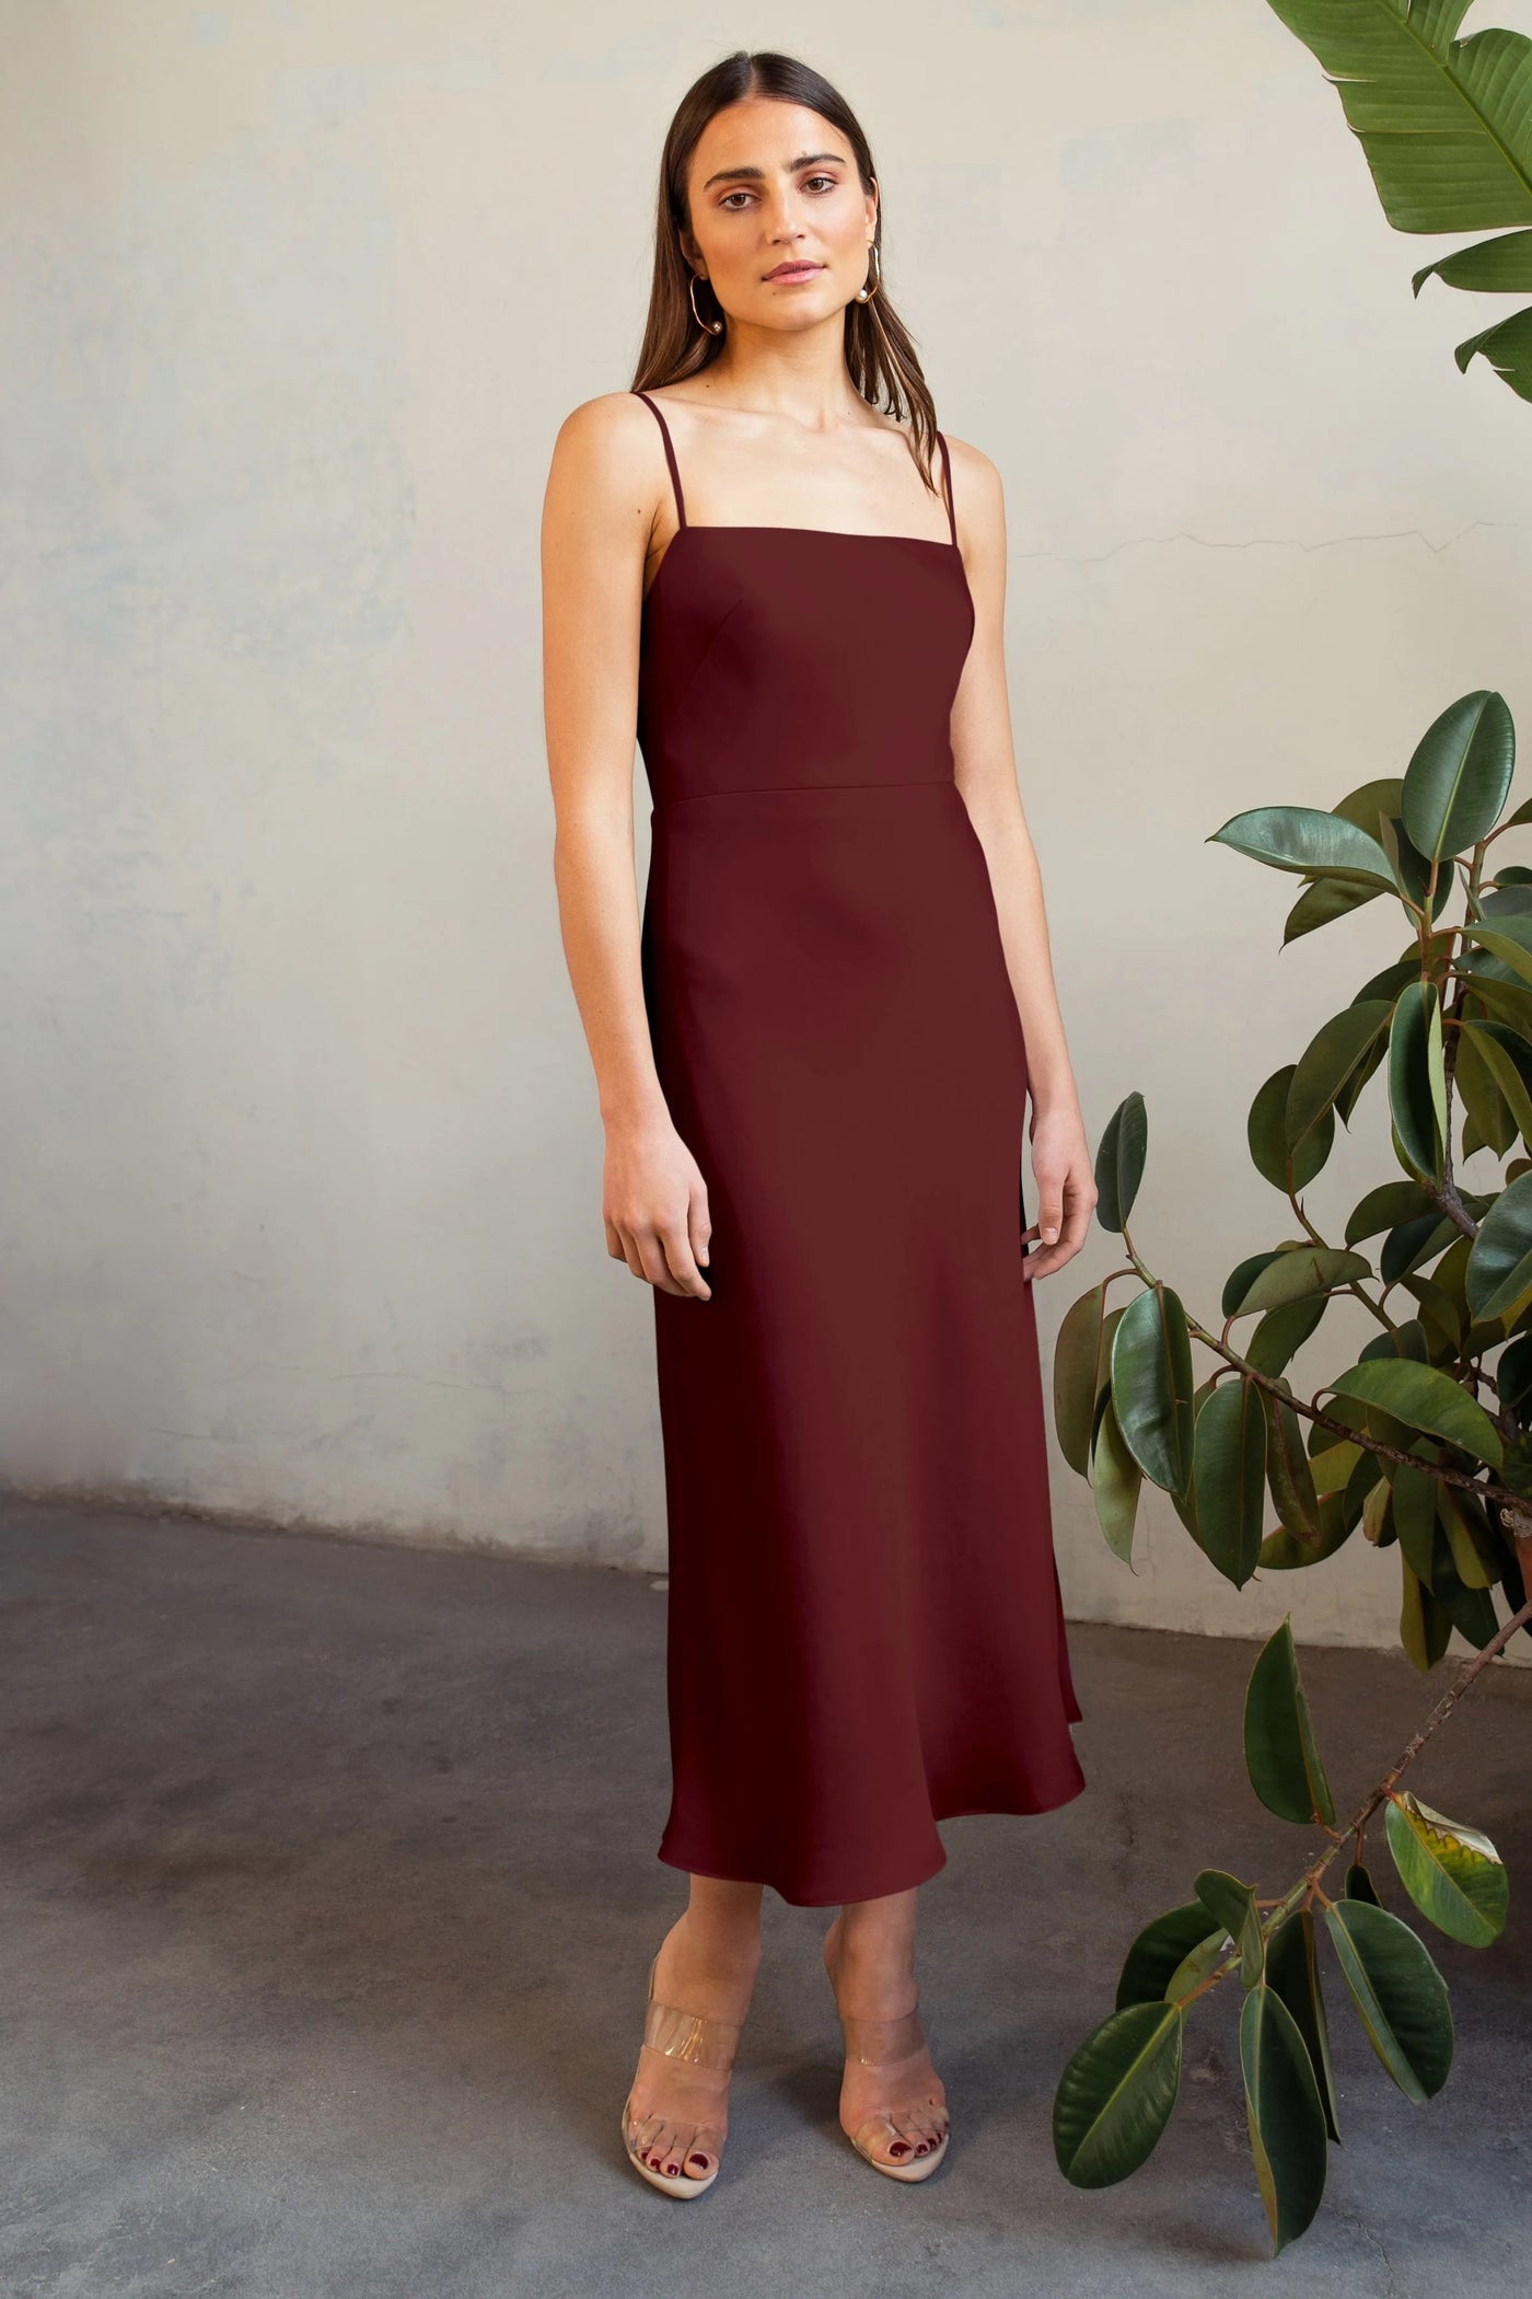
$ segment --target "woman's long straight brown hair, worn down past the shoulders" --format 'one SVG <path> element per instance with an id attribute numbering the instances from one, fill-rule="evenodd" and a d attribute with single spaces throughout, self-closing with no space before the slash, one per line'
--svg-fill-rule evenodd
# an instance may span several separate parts
<path id="1" fill-rule="evenodd" d="M 795 55 L 776 55 L 772 48 L 749 53 L 737 48 L 719 64 L 712 64 L 675 106 L 675 117 L 659 156 L 659 202 L 655 216 L 655 283 L 650 287 L 650 310 L 643 324 L 643 345 L 634 368 L 634 391 L 652 391 L 655 384 L 678 384 L 689 375 L 710 368 L 724 347 L 721 336 L 710 336 L 696 324 L 691 313 L 691 264 L 687 262 L 680 232 L 691 230 L 687 205 L 687 177 L 698 138 L 714 113 L 744 97 L 774 97 L 783 103 L 802 103 L 820 113 L 845 136 L 857 161 L 861 189 L 873 191 L 875 168 L 861 122 L 845 97 L 829 85 L 811 64 Z M 882 198 L 877 200 L 877 271 L 882 271 Z M 712 290 L 698 280 L 698 310 Z M 710 315 L 712 317 L 712 315 Z M 930 386 L 916 359 L 914 343 L 889 301 L 889 290 L 866 303 L 845 306 L 845 366 L 852 384 L 871 407 L 887 412 L 903 423 L 910 421 L 910 453 L 914 455 L 926 485 L 937 492 L 930 458 L 937 437 L 937 409 Z"/>

